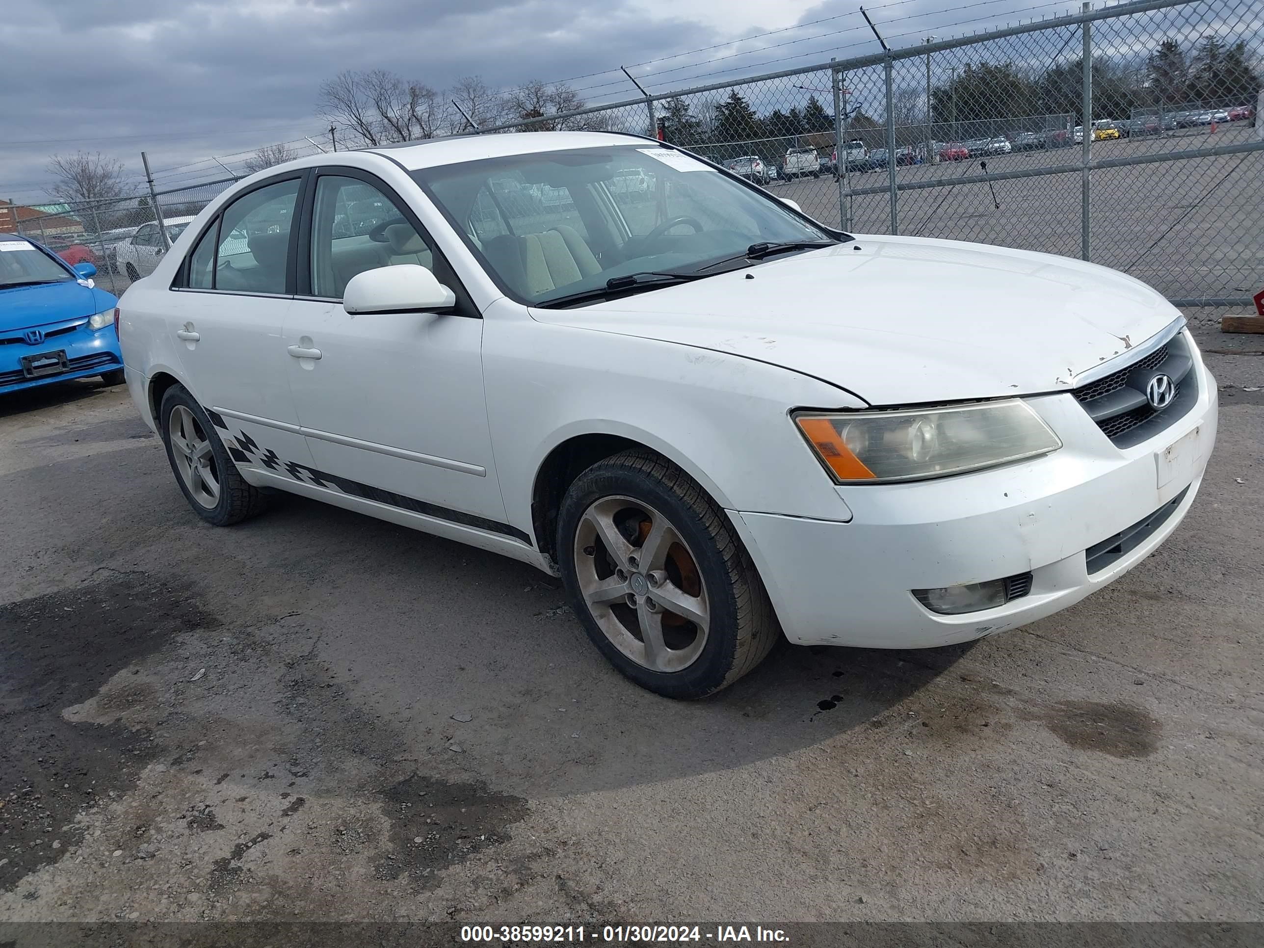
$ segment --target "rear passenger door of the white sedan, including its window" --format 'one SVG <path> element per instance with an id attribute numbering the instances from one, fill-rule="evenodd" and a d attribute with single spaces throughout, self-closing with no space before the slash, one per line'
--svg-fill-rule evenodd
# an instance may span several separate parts
<path id="1" fill-rule="evenodd" d="M 282 343 L 305 183 L 305 172 L 291 172 L 226 205 L 193 241 L 168 320 L 193 396 L 234 460 L 279 475 L 287 464 L 311 464 Z"/>

